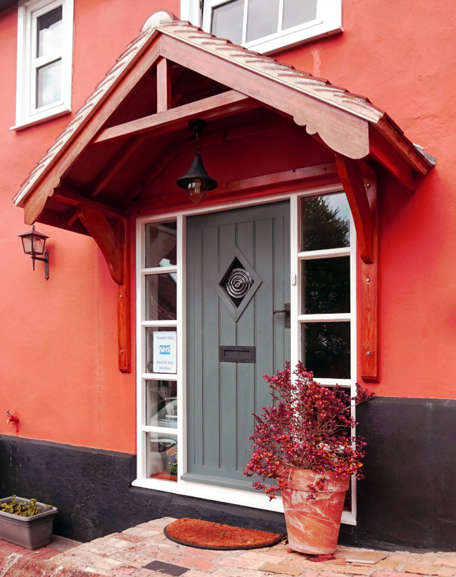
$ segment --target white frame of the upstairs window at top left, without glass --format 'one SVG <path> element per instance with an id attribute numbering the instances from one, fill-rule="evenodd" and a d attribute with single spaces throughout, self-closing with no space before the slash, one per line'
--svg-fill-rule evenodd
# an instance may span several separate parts
<path id="1" fill-rule="evenodd" d="M 37 18 L 62 6 L 62 51 L 36 58 Z M 71 112 L 74 0 L 22 0 L 18 6 L 18 76 L 16 123 L 11 130 L 32 126 Z M 36 70 L 62 59 L 62 98 L 36 109 Z"/>

